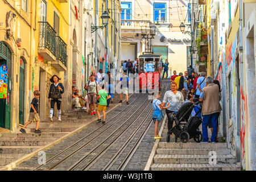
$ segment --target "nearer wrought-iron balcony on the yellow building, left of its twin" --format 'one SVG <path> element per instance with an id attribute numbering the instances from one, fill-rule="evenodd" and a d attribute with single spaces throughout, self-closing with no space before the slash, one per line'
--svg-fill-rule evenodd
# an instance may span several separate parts
<path id="1" fill-rule="evenodd" d="M 48 22 L 39 22 L 38 53 L 47 61 L 55 60 L 56 32 Z"/>

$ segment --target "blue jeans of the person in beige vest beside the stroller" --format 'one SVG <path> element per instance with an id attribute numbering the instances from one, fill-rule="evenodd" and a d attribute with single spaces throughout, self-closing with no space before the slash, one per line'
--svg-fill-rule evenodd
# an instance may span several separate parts
<path id="1" fill-rule="evenodd" d="M 203 115 L 203 122 L 202 122 L 202 130 L 203 130 L 203 142 L 208 142 L 208 122 L 212 122 L 212 137 L 210 138 L 211 142 L 215 142 L 216 140 L 216 133 L 217 133 L 217 122 L 218 122 L 218 116 L 220 113 L 214 113 L 214 114 L 209 114 L 209 115 Z"/>

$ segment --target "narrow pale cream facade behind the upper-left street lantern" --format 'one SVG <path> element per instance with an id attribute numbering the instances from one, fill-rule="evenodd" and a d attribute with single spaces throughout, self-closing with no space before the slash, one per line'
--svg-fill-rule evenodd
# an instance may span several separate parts
<path id="1" fill-rule="evenodd" d="M 106 73 L 110 68 L 120 70 L 121 66 L 121 5 L 117 0 L 95 0 L 93 26 L 103 26 L 101 15 L 106 11 L 109 14 L 108 25 L 93 33 L 94 67 L 92 73 L 103 69 Z"/>

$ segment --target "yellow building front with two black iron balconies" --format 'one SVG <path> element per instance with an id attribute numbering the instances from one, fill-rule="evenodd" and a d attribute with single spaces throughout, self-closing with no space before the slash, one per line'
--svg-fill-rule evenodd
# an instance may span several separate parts
<path id="1" fill-rule="evenodd" d="M 49 116 L 50 110 L 48 92 L 51 82 L 49 78 L 53 75 L 59 76 L 64 88 L 64 81 L 67 79 L 69 1 L 40 0 L 36 1 L 34 7 L 30 89 L 32 92 L 34 90 L 41 92 L 39 112 L 40 119 L 43 120 Z"/>

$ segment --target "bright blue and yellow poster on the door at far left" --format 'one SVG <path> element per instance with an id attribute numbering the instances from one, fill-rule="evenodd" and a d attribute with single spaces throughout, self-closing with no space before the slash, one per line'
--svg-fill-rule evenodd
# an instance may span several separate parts
<path id="1" fill-rule="evenodd" d="M 8 68 L 3 64 L 0 67 L 0 99 L 7 97 Z"/>

